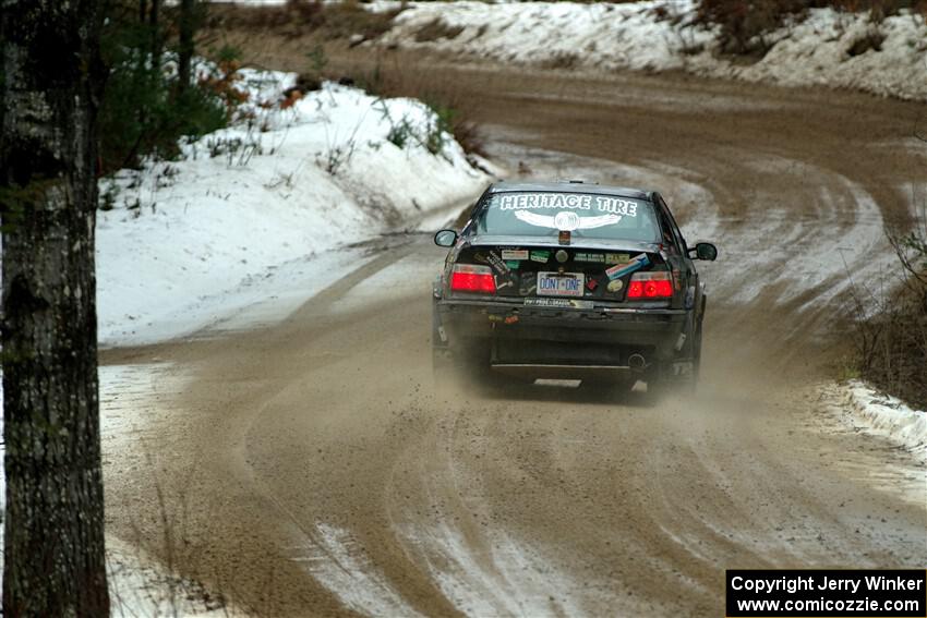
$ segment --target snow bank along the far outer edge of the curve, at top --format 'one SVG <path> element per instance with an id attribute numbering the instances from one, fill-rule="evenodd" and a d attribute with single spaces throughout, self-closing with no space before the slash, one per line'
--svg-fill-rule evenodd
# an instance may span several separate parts
<path id="1" fill-rule="evenodd" d="M 395 5 L 374 3 L 373 10 Z M 874 26 L 865 13 L 811 9 L 808 19 L 769 39 L 775 41 L 760 61 L 718 57 L 713 29 L 693 23 L 693 0 L 635 3 L 477 1 L 411 2 L 380 41 L 405 48 L 466 52 L 493 60 L 605 71 L 684 70 L 699 75 L 790 86 L 823 85 L 883 96 L 927 100 L 927 27 L 908 13 L 879 26 L 880 51 L 856 56 L 851 49 Z M 662 15 L 662 17 L 661 17 Z M 435 20 L 462 28 L 453 38 L 416 41 Z"/>

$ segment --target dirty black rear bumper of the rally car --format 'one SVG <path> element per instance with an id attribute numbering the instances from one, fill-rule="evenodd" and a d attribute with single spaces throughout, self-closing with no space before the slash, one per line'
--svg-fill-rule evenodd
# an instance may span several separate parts
<path id="1" fill-rule="evenodd" d="M 497 368 L 571 366 L 599 372 L 626 369 L 633 353 L 643 354 L 648 363 L 677 359 L 694 314 L 657 307 L 566 308 L 441 299 L 434 308 L 435 347 L 490 342 Z M 532 352 L 545 344 L 566 350 L 568 358 L 557 358 L 561 352 Z"/>

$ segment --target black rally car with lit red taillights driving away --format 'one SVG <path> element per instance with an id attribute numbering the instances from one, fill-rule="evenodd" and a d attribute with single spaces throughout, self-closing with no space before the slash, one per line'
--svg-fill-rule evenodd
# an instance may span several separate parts
<path id="1" fill-rule="evenodd" d="M 435 368 L 516 379 L 694 385 L 705 287 L 655 192 L 577 181 L 491 185 L 434 284 Z"/>

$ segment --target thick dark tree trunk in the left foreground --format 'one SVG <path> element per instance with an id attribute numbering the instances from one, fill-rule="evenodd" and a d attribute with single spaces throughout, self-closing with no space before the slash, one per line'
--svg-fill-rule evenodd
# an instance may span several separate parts
<path id="1" fill-rule="evenodd" d="M 0 8 L 3 615 L 107 616 L 94 223 L 97 0 Z"/>

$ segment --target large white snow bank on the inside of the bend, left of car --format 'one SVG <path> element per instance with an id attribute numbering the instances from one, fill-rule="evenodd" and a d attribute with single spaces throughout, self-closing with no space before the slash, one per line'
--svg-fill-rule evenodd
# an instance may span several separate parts
<path id="1" fill-rule="evenodd" d="M 420 101 L 327 83 L 281 107 L 294 74 L 242 74 L 248 121 L 100 182 L 113 207 L 97 218 L 101 344 L 190 334 L 233 311 L 230 290 L 489 181 Z"/>

